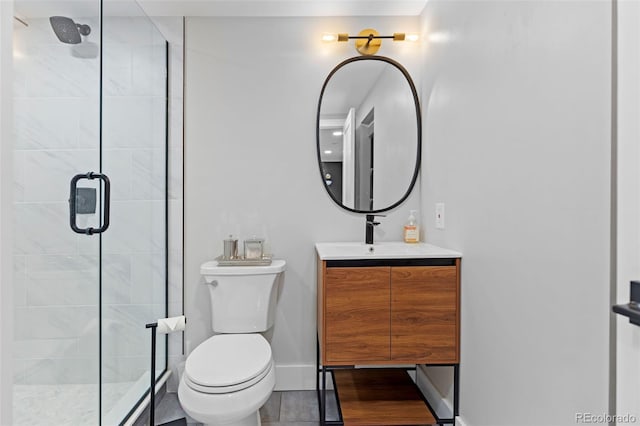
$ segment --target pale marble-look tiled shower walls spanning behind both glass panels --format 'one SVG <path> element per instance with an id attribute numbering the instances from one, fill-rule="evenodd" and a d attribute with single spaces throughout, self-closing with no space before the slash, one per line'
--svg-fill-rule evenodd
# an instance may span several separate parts
<path id="1" fill-rule="evenodd" d="M 97 20 L 78 21 L 97 40 Z M 165 44 L 144 18 L 105 18 L 107 25 L 103 170 L 112 225 L 103 239 L 103 378 L 135 381 L 148 369 L 144 324 L 164 316 Z M 67 199 L 71 176 L 99 169 L 99 62 L 72 56 L 47 19 L 29 20 L 14 36 L 15 383 L 95 383 L 98 238 L 71 232 Z M 171 68 L 181 75 L 181 65 Z M 172 96 L 180 111 L 170 116 L 180 123 L 170 132 L 180 138 L 170 137 L 169 208 L 181 223 L 182 94 Z M 169 230 L 169 290 L 180 296 L 170 310 L 181 313 L 182 227 Z"/>

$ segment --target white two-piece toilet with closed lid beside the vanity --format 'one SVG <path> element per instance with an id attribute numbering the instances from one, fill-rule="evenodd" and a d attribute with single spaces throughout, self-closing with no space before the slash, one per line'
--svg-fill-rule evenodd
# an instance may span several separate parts
<path id="1" fill-rule="evenodd" d="M 271 345 L 284 260 L 268 266 L 200 267 L 209 288 L 215 334 L 187 357 L 178 386 L 184 411 L 205 425 L 259 426 L 258 410 L 275 387 Z"/>

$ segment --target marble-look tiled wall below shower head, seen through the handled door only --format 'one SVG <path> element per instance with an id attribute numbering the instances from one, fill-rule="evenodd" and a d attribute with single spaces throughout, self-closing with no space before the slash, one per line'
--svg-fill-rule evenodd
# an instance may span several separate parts
<path id="1" fill-rule="evenodd" d="M 96 383 L 98 245 L 70 232 L 67 199 L 71 176 L 99 168 L 99 62 L 33 19 L 14 64 L 14 382 Z"/>

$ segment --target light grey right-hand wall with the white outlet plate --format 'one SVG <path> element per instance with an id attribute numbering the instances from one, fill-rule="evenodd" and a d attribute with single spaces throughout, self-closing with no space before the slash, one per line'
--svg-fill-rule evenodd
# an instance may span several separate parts
<path id="1" fill-rule="evenodd" d="M 423 29 L 423 218 L 464 254 L 461 417 L 606 413 L 611 4 L 433 0 Z"/>

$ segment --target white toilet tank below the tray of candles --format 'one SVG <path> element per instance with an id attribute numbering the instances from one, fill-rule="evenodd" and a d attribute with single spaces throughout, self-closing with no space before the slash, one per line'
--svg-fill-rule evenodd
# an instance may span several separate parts
<path id="1" fill-rule="evenodd" d="M 216 333 L 260 333 L 275 320 L 284 260 L 268 266 L 219 266 L 210 261 L 200 273 L 209 288 L 211 325 Z"/>

